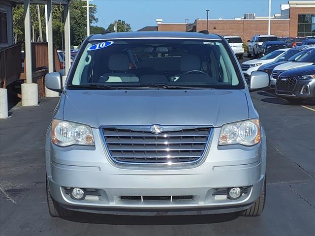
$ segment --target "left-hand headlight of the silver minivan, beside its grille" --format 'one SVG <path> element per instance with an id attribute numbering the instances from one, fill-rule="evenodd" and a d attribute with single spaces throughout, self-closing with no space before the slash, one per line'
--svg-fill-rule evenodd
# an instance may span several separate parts
<path id="1" fill-rule="evenodd" d="M 61 147 L 71 145 L 94 146 L 90 126 L 54 119 L 51 127 L 51 141 Z"/>

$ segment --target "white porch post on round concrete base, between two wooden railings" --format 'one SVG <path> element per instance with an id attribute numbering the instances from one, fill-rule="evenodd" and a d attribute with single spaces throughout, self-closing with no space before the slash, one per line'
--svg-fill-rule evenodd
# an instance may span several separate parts
<path id="1" fill-rule="evenodd" d="M 33 83 L 32 71 L 32 42 L 31 42 L 31 4 L 30 0 L 24 0 L 24 29 L 25 29 L 25 71 L 26 84 L 22 84 L 22 106 L 38 105 L 37 84 Z M 25 96 L 23 94 L 26 94 Z"/>

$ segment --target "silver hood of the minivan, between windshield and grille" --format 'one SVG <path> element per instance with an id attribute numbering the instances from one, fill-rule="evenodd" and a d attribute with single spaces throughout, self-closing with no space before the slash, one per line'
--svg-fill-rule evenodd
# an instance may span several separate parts
<path id="1" fill-rule="evenodd" d="M 95 128 L 152 124 L 219 127 L 249 118 L 248 101 L 241 90 L 67 89 L 64 96 L 63 119 Z"/>

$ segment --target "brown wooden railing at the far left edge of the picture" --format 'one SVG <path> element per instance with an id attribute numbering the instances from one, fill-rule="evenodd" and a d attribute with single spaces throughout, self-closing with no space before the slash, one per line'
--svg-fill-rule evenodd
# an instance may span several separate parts
<path id="1" fill-rule="evenodd" d="M 0 49 L 0 87 L 19 79 L 22 70 L 21 43 Z"/>

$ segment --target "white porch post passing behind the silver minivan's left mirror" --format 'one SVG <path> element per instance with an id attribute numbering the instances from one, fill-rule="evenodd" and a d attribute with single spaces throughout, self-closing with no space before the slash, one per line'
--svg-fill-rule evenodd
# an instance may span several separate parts
<path id="1" fill-rule="evenodd" d="M 53 41 L 53 11 L 52 0 L 47 0 L 48 24 L 46 27 L 48 35 L 48 72 L 54 72 L 54 41 Z M 59 92 L 45 87 L 46 97 L 59 97 Z"/>

